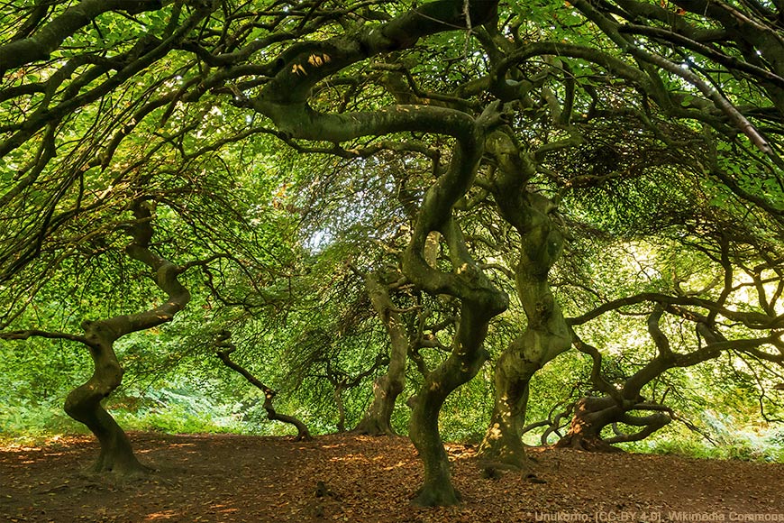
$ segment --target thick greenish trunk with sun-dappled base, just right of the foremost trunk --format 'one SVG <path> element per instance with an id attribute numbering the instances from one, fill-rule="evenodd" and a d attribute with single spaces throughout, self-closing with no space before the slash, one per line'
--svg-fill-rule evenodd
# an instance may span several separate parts
<path id="1" fill-rule="evenodd" d="M 496 133 L 489 142 L 488 149 L 499 159 L 494 190 L 498 208 L 520 234 L 515 284 L 528 325 L 496 363 L 493 415 L 479 446 L 479 457 L 494 466 L 519 469 L 527 464 L 521 428 L 529 382 L 536 371 L 571 344 L 569 326 L 548 282 L 564 236 L 556 223 L 557 207 L 524 188 L 525 180 L 533 174 L 530 159 L 503 133 Z"/>

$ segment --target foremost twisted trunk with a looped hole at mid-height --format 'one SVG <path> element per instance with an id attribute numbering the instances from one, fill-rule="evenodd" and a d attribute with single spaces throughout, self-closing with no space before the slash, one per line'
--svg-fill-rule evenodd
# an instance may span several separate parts
<path id="1" fill-rule="evenodd" d="M 438 416 L 451 392 L 473 378 L 488 358 L 482 344 L 490 319 L 509 305 L 506 293 L 496 289 L 466 247 L 460 226 L 451 214 L 455 202 L 476 177 L 485 139 L 499 124 L 497 106 L 490 106 L 473 124 L 473 130 L 452 152 L 449 170 L 424 196 L 415 231 L 406 249 L 403 271 L 417 287 L 433 295 L 460 299 L 460 322 L 449 358 L 425 376 L 414 400 L 409 435 L 424 463 L 424 482 L 414 502 L 424 506 L 453 505 L 460 493 L 451 484 L 449 459 L 438 431 Z M 451 272 L 433 268 L 425 260 L 427 238 L 442 234 L 449 251 Z"/>

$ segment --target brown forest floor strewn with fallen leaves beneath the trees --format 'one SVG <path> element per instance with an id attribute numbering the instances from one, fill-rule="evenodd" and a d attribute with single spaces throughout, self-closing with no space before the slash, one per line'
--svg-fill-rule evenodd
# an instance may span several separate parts
<path id="1" fill-rule="evenodd" d="M 464 503 L 422 509 L 409 503 L 422 470 L 404 437 L 131 438 L 156 472 L 125 482 L 83 472 L 97 455 L 91 437 L 0 446 L 0 521 L 784 520 L 781 463 L 533 448 L 534 478 L 486 479 L 472 446 L 448 445 Z"/>

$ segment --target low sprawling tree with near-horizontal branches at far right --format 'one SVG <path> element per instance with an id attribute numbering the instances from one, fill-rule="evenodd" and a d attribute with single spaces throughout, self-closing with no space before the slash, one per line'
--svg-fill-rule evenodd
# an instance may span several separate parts
<path id="1" fill-rule="evenodd" d="M 695 212 L 691 217 L 697 216 Z M 643 292 L 607 300 L 593 311 L 567 320 L 570 328 L 576 328 L 622 310 L 644 317 L 654 351 L 630 374 L 607 379 L 602 372 L 602 353 L 572 330 L 575 346 L 593 361 L 591 378 L 601 396 L 579 399 L 569 433 L 557 445 L 612 451 L 616 450 L 612 444 L 639 441 L 664 427 L 676 416 L 664 403 L 666 392 L 657 400 L 649 399 L 644 390 L 650 390 L 652 382 L 670 370 L 707 362 L 727 352 L 752 357 L 761 366 L 784 362 L 780 332 L 784 324 L 774 305 L 782 285 L 778 275 L 772 276 L 776 269 L 770 265 L 771 260 L 779 259 L 779 245 L 767 244 L 753 234 L 752 217 L 724 219 L 727 221 L 722 223 L 722 218 L 716 217 L 698 236 L 683 231 L 677 234 L 679 248 L 690 248 L 692 257 L 707 262 L 681 267 L 670 261 L 669 294 Z M 661 243 L 668 241 L 662 239 Z M 765 252 L 762 259 L 750 257 L 761 252 Z M 768 284 L 762 283 L 763 273 L 772 276 Z M 634 411 L 652 414 L 630 414 Z M 602 436 L 605 427 L 619 423 L 639 430 Z"/>

